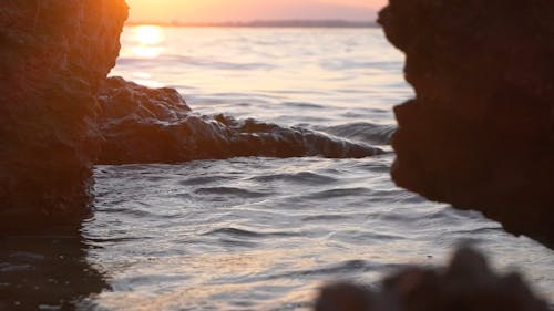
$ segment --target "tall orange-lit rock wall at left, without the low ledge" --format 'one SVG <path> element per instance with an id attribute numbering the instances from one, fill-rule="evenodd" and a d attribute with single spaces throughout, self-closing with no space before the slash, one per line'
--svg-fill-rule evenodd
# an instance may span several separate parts
<path id="1" fill-rule="evenodd" d="M 0 4 L 0 228 L 86 212 L 98 90 L 119 53 L 123 0 Z"/>

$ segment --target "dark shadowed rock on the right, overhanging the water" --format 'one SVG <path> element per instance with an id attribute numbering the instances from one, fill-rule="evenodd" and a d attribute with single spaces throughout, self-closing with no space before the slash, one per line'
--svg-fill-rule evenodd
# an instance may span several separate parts
<path id="1" fill-rule="evenodd" d="M 554 245 L 554 2 L 391 0 L 416 99 L 394 108 L 396 183 Z"/>

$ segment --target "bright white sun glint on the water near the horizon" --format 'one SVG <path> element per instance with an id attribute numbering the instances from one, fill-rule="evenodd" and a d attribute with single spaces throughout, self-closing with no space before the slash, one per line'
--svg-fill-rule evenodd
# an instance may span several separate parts
<path id="1" fill-rule="evenodd" d="M 140 58 L 157 58 L 163 52 L 165 34 L 158 25 L 140 25 L 133 28 L 133 53 Z"/>

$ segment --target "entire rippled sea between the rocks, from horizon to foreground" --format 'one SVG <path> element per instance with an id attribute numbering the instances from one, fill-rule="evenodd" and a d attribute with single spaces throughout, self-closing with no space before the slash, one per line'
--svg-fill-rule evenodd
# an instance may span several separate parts
<path id="1" fill-rule="evenodd" d="M 245 157 L 96 166 L 85 310 L 310 310 L 318 289 L 378 287 L 460 243 L 554 301 L 552 250 L 389 176 L 394 104 L 413 96 L 378 28 L 127 27 L 111 75 L 177 89 L 193 111 L 376 146 L 366 158 Z"/>

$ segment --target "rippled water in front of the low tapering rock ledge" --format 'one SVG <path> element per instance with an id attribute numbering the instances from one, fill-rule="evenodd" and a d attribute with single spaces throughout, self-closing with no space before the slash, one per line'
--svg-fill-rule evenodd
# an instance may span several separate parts
<path id="1" fill-rule="evenodd" d="M 459 241 L 552 296 L 552 251 L 396 188 L 391 155 L 98 167 L 89 260 L 111 310 L 309 310 L 318 287 L 439 265 Z"/>

